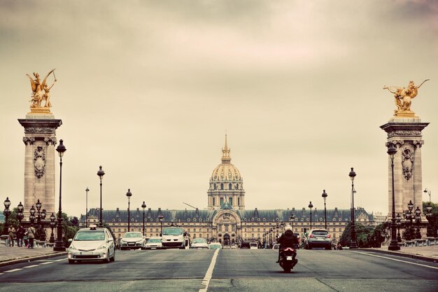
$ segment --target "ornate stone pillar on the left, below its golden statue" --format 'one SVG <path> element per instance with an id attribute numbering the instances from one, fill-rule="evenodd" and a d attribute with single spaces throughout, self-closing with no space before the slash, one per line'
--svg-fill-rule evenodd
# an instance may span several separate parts
<path id="1" fill-rule="evenodd" d="M 18 119 L 24 127 L 24 214 L 39 199 L 48 216 L 55 209 L 55 145 L 56 120 L 50 111 L 31 111 L 25 119 Z"/>

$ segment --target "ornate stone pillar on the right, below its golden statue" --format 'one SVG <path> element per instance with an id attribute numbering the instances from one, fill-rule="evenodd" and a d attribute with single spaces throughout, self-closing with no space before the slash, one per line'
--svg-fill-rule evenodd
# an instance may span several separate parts
<path id="1" fill-rule="evenodd" d="M 397 148 L 394 155 L 394 191 L 395 214 L 402 216 L 407 209 L 409 200 L 414 203 L 414 209 L 423 206 L 423 176 L 421 172 L 421 131 L 429 123 L 421 123 L 419 118 L 392 118 L 389 123 L 381 125 L 388 133 L 387 143 Z M 391 165 L 388 158 L 388 218 L 392 217 L 392 181 Z"/>

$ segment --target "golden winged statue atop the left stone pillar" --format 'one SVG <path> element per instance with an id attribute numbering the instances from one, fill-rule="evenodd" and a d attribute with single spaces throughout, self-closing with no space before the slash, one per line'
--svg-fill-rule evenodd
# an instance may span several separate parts
<path id="1" fill-rule="evenodd" d="M 53 74 L 55 80 L 53 81 L 52 85 L 49 86 L 46 81 L 50 74 Z M 40 75 L 36 72 L 34 72 L 35 78 L 29 76 L 29 74 L 26 74 L 26 76 L 30 79 L 30 85 L 32 89 L 32 99 L 30 100 L 31 110 L 43 107 L 43 108 L 48 108 L 48 110 L 50 111 L 50 106 L 52 106 L 52 104 L 50 104 L 50 89 L 53 87 L 53 85 L 55 85 L 56 82 L 55 69 L 50 71 L 45 76 L 43 82 L 40 81 Z M 43 101 L 45 102 L 45 104 L 44 106 L 41 106 L 41 103 Z"/>

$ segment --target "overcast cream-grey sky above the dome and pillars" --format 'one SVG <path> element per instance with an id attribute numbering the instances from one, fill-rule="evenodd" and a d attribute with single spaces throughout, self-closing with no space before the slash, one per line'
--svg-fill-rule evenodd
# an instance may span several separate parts
<path id="1" fill-rule="evenodd" d="M 0 1 L 0 200 L 24 197 L 25 74 L 56 68 L 69 216 L 85 214 L 85 188 L 99 207 L 99 165 L 104 209 L 126 209 L 128 188 L 131 209 L 206 208 L 225 134 L 246 209 L 323 209 L 323 190 L 348 209 L 354 167 L 355 206 L 386 214 L 383 86 L 428 78 L 411 109 L 430 123 L 437 202 L 437 15 L 420 0 Z"/>

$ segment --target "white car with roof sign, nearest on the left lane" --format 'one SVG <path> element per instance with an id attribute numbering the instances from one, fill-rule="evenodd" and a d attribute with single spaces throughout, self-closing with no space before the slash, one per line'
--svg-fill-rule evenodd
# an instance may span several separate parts
<path id="1" fill-rule="evenodd" d="M 111 232 L 106 228 L 82 228 L 76 232 L 73 239 L 69 239 L 67 249 L 69 263 L 83 260 L 103 260 L 105 263 L 115 260 L 115 244 Z"/>

